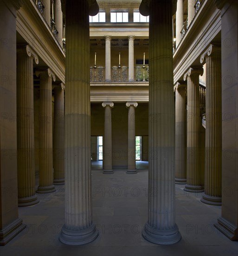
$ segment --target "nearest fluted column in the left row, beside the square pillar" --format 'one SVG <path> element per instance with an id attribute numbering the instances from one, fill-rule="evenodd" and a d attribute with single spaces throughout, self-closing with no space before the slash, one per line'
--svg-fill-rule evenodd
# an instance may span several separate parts
<path id="1" fill-rule="evenodd" d="M 35 194 L 33 61 L 37 54 L 28 45 L 17 53 L 17 172 L 18 206 L 39 202 Z"/>

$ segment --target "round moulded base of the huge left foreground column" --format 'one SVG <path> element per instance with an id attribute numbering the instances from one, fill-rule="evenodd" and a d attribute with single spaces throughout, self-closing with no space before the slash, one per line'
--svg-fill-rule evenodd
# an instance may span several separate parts
<path id="1" fill-rule="evenodd" d="M 68 245 L 83 245 L 94 241 L 98 236 L 95 225 L 84 230 L 69 230 L 65 226 L 59 235 L 59 241 Z"/>

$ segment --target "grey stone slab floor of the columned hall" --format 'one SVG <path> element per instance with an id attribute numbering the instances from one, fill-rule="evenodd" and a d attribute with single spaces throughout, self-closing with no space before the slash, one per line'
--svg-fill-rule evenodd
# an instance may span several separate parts
<path id="1" fill-rule="evenodd" d="M 64 185 L 39 195 L 37 205 L 19 208 L 27 227 L 5 246 L 0 256 L 237 256 L 238 242 L 214 228 L 221 207 L 200 202 L 201 193 L 176 185 L 176 223 L 182 239 L 174 245 L 156 245 L 142 237 L 147 221 L 148 163 L 138 162 L 137 174 L 115 170 L 104 175 L 93 165 L 93 222 L 98 238 L 83 246 L 68 246 L 58 237 L 64 224 Z"/>

